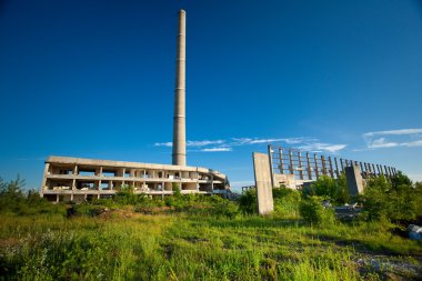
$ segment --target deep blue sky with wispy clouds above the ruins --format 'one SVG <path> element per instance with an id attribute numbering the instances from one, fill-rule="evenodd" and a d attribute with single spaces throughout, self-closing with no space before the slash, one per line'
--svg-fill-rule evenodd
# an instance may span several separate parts
<path id="1" fill-rule="evenodd" d="M 48 155 L 171 163 L 187 11 L 188 164 L 253 181 L 268 143 L 422 180 L 422 3 L 1 1 L 0 177 Z"/>

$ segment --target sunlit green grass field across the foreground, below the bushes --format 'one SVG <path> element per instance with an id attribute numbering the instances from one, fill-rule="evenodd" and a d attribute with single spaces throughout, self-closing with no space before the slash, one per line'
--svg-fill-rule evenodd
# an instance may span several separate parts
<path id="1" fill-rule="evenodd" d="M 421 268 L 421 243 L 382 223 L 185 212 L 0 219 L 4 280 L 381 280 L 358 262 L 380 254 Z"/>

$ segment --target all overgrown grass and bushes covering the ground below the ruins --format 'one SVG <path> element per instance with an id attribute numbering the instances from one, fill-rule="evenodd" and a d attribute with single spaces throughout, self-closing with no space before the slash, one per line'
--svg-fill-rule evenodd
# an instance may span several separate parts
<path id="1" fill-rule="evenodd" d="M 269 217 L 254 214 L 253 190 L 232 202 L 125 187 L 113 199 L 52 204 L 22 184 L 0 180 L 0 280 L 411 280 L 422 269 L 421 242 L 388 221 L 421 215 L 422 184 L 402 174 L 371 180 L 353 223 L 321 204 L 342 202 L 342 183 L 324 178 L 315 193 L 274 189 Z M 386 265 L 372 267 L 374 257 Z M 392 262 L 409 270 L 392 273 Z"/>

